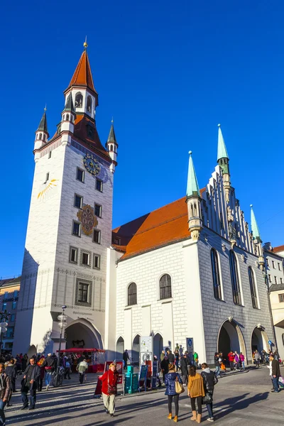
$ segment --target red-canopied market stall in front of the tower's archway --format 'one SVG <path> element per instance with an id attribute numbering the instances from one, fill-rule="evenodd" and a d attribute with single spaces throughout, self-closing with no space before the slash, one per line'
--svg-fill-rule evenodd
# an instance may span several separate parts
<path id="1" fill-rule="evenodd" d="M 104 351 L 104 349 L 97 348 L 70 348 L 60 350 L 60 354 L 72 355 L 73 366 L 77 366 L 77 359 L 79 359 L 80 356 L 86 356 L 87 359 L 89 359 L 89 368 L 87 373 L 97 373 L 98 371 L 104 371 L 105 352 L 106 351 Z"/>

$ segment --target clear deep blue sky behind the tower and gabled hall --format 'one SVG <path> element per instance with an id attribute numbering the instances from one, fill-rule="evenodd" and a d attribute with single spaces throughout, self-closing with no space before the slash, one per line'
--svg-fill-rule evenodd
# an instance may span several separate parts
<path id="1" fill-rule="evenodd" d="M 0 277 L 21 273 L 34 131 L 52 135 L 87 34 L 97 127 L 114 116 L 114 226 L 185 195 L 188 151 L 200 187 L 217 159 L 217 124 L 246 220 L 284 244 L 284 4 L 281 1 L 18 0 L 1 9 Z"/>

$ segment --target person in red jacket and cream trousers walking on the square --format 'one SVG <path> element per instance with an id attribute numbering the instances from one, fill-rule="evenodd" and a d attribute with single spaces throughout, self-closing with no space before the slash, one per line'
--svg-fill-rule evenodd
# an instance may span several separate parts
<path id="1" fill-rule="evenodd" d="M 104 408 L 111 417 L 114 417 L 118 378 L 119 373 L 116 371 L 115 364 L 111 364 L 109 370 L 102 376 L 102 399 L 104 400 Z"/>

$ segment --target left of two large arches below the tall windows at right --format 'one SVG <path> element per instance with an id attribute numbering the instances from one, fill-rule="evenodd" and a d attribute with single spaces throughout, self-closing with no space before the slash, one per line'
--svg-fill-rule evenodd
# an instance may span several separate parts
<path id="1" fill-rule="evenodd" d="M 244 336 L 241 329 L 236 322 L 225 321 L 219 330 L 218 351 L 227 358 L 230 351 L 237 351 L 238 354 L 242 352 L 246 359 L 246 345 L 244 343 Z"/>

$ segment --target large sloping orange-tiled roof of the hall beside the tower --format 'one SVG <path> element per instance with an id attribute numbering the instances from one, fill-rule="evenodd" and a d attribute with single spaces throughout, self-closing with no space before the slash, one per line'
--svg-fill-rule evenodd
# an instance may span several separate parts
<path id="1" fill-rule="evenodd" d="M 205 188 L 200 192 L 204 192 Z M 171 202 L 151 213 L 144 214 L 112 231 L 113 240 L 119 238 L 121 246 L 112 244 L 117 250 L 125 251 L 121 259 L 146 253 L 158 247 L 190 237 L 188 230 L 186 197 Z"/>

